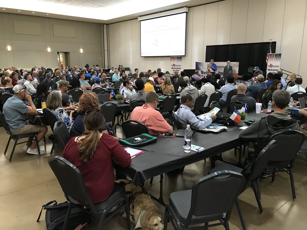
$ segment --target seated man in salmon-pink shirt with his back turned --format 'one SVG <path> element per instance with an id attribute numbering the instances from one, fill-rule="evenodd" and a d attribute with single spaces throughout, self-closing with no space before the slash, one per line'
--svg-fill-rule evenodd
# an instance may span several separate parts
<path id="1" fill-rule="evenodd" d="M 131 113 L 131 119 L 145 124 L 150 135 L 159 135 L 164 132 L 173 132 L 170 126 L 163 118 L 162 114 L 157 111 L 159 104 L 159 95 L 150 91 L 146 94 L 145 104 L 135 107 Z"/>

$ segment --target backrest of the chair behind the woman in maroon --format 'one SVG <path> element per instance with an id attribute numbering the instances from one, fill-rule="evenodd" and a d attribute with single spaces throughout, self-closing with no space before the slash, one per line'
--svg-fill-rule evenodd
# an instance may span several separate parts
<path id="1" fill-rule="evenodd" d="M 48 164 L 60 183 L 66 199 L 71 202 L 76 200 L 82 203 L 88 203 L 93 213 L 99 215 L 87 193 L 87 188 L 80 170 L 60 156 L 49 158 Z"/>

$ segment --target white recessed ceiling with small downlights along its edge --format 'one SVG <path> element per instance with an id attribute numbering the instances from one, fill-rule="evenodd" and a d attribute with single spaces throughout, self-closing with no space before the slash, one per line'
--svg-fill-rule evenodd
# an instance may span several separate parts
<path id="1" fill-rule="evenodd" d="M 0 0 L 0 12 L 111 24 L 218 0 Z"/>

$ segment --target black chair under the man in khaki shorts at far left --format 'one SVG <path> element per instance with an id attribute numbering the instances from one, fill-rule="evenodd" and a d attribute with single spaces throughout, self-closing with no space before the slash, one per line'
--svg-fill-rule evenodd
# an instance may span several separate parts
<path id="1" fill-rule="evenodd" d="M 9 128 L 9 125 L 6 123 L 6 120 L 4 118 L 4 115 L 0 112 L 0 122 L 1 124 L 3 125 L 3 128 L 5 129 L 6 133 L 10 135 L 9 137 L 9 140 L 7 141 L 7 144 L 6 144 L 6 148 L 4 150 L 4 155 L 6 155 L 6 151 L 7 151 L 7 148 L 9 147 L 9 144 L 10 144 L 10 141 L 13 139 L 15 142 L 14 142 L 14 146 L 13 146 L 13 149 L 12 149 L 12 152 L 11 152 L 11 155 L 10 155 L 10 159 L 9 159 L 9 162 L 11 162 L 12 160 L 12 157 L 13 157 L 13 154 L 14 154 L 14 150 L 15 150 L 15 147 L 17 145 L 17 142 L 19 139 L 22 139 L 22 138 L 26 138 L 26 137 L 31 137 L 31 136 L 34 136 L 34 139 L 36 141 L 36 147 L 38 149 L 38 155 L 41 155 L 40 151 L 39 151 L 39 146 L 38 146 L 38 141 L 37 141 L 37 132 L 33 132 L 33 133 L 26 133 L 26 134 L 19 134 L 19 135 L 12 135 L 11 131 L 10 131 L 10 128 Z M 26 143 L 28 141 L 24 141 L 24 142 L 20 142 L 18 144 L 23 144 L 23 143 Z"/>

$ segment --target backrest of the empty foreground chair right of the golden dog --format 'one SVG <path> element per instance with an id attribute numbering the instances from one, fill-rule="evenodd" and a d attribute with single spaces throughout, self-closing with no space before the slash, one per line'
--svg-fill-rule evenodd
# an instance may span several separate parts
<path id="1" fill-rule="evenodd" d="M 244 183 L 242 174 L 226 170 L 198 179 L 192 187 L 191 207 L 183 228 L 187 228 L 193 215 L 215 216 L 218 220 L 226 213 L 224 220 L 229 220 Z"/>

